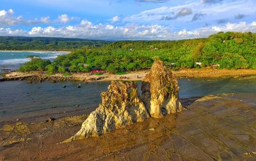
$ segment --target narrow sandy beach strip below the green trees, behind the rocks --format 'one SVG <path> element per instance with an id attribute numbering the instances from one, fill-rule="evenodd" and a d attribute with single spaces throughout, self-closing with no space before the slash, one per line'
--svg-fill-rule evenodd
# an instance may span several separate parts
<path id="1" fill-rule="evenodd" d="M 216 68 L 201 69 L 183 69 L 172 71 L 177 78 L 220 78 L 220 77 L 248 77 L 256 76 L 256 70 L 239 69 L 226 70 Z M 103 73 L 102 75 L 90 75 L 90 73 L 71 73 L 69 76 L 63 76 L 61 73 L 54 75 L 46 75 L 42 72 L 10 72 L 5 73 L 1 81 L 27 80 L 29 82 L 41 81 L 83 81 L 83 82 L 102 82 L 102 81 L 142 81 L 147 70 L 128 72 L 123 75 L 115 75 L 111 73 Z"/>

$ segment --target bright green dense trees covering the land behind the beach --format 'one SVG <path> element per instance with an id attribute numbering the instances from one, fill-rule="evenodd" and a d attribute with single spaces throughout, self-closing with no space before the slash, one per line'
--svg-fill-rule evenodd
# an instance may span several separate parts
<path id="1" fill-rule="evenodd" d="M 47 70 L 61 73 L 144 70 L 150 68 L 154 57 L 163 59 L 173 69 L 200 68 L 196 62 L 227 69 L 256 69 L 256 34 L 221 32 L 194 40 L 120 41 L 102 47 L 85 46 L 58 56 Z"/>

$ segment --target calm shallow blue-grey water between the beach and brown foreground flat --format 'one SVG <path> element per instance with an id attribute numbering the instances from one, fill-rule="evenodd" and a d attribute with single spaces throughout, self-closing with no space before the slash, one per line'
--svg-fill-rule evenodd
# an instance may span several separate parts
<path id="1" fill-rule="evenodd" d="M 109 82 L 0 82 L 0 123 L 17 118 L 65 116 L 92 112 L 101 102 L 100 93 L 107 91 Z M 62 88 L 62 86 L 67 86 Z M 141 83 L 139 82 L 139 88 Z M 256 104 L 255 77 L 225 79 L 179 79 L 180 98 L 218 93 L 236 93 L 250 97 Z M 54 107 L 54 108 L 52 108 Z"/>

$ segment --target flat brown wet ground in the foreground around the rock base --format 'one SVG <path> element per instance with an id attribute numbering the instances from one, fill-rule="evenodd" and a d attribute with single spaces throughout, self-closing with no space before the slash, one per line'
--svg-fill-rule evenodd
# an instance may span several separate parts
<path id="1" fill-rule="evenodd" d="M 246 98 L 246 99 L 245 99 Z M 0 160 L 255 160 L 255 97 L 182 100 L 188 110 L 60 144 L 86 116 L 15 123 L 0 130 Z"/>

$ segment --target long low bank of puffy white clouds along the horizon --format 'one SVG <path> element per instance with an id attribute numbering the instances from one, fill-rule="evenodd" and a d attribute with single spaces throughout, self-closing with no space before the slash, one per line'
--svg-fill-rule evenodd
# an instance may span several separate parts
<path id="1" fill-rule="evenodd" d="M 138 25 L 113 26 L 110 24 L 93 24 L 82 20 L 77 26 L 67 27 L 33 27 L 30 31 L 0 28 L 4 36 L 51 36 L 66 38 L 86 38 L 100 40 L 180 40 L 207 37 L 220 31 L 256 32 L 256 21 L 252 23 L 227 23 L 218 26 L 205 26 L 198 29 L 172 31 L 170 26 Z"/>

